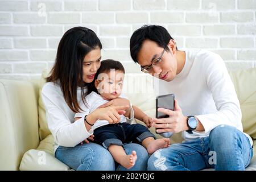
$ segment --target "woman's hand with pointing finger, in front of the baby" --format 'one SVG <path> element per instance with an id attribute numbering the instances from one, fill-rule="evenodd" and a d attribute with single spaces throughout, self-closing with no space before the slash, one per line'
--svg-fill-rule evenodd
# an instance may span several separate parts
<path id="1" fill-rule="evenodd" d="M 110 124 L 118 123 L 121 119 L 120 115 L 125 114 L 129 108 L 127 106 L 109 106 L 104 108 L 98 108 L 94 110 L 91 114 L 94 118 L 107 120 Z M 97 120 L 96 119 L 96 120 Z"/>

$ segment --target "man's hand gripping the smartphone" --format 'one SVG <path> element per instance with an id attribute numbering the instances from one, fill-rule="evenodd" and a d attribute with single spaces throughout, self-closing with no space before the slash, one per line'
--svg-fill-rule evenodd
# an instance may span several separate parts
<path id="1" fill-rule="evenodd" d="M 182 114 L 182 110 L 176 100 L 174 104 L 174 111 L 164 108 L 158 108 L 158 111 L 170 116 L 168 118 L 153 119 L 152 126 L 157 129 L 158 133 L 179 133 L 180 131 L 188 130 L 187 117 Z"/>

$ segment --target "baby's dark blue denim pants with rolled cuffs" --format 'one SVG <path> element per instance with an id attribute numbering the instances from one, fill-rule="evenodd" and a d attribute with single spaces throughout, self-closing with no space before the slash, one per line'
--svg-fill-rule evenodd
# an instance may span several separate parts
<path id="1" fill-rule="evenodd" d="M 112 144 L 123 146 L 123 143 L 141 143 L 148 137 L 155 138 L 146 126 L 129 123 L 101 126 L 94 130 L 93 135 L 93 142 L 102 144 L 107 149 Z"/>

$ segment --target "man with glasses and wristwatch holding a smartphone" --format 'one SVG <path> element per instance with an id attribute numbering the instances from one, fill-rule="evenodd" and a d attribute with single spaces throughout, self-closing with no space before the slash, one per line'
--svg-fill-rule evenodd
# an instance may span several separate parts
<path id="1" fill-rule="evenodd" d="M 244 170 L 249 166 L 253 141 L 242 133 L 240 103 L 219 55 L 180 51 L 168 31 L 155 25 L 133 33 L 130 53 L 142 72 L 160 79 L 160 95 L 175 94 L 174 111 L 158 109 L 170 117 L 154 119 L 153 126 L 158 133 L 182 131 L 185 139 L 151 155 L 148 170 Z"/>

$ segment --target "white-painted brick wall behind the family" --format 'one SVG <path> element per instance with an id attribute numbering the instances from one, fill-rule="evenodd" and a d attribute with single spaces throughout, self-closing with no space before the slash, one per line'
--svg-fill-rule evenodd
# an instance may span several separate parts
<path id="1" fill-rule="evenodd" d="M 103 59 L 139 73 L 129 40 L 143 24 L 166 27 L 179 49 L 220 54 L 230 70 L 256 67 L 256 0 L 0 0 L 0 78 L 39 77 L 75 26 L 96 32 Z"/>

